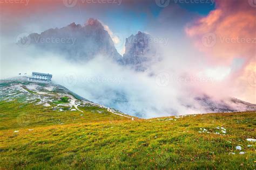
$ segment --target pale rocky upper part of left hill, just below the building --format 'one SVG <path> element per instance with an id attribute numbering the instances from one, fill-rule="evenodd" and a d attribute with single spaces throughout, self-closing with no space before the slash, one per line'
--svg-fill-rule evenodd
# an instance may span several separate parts
<path id="1" fill-rule="evenodd" d="M 93 103 L 73 93 L 67 88 L 58 84 L 33 83 L 28 81 L 2 80 L 0 81 L 0 102 L 18 101 L 20 103 L 42 105 L 51 108 L 53 111 L 80 111 L 79 108 L 95 107 L 98 114 L 104 109 L 112 114 L 131 118 L 122 112 Z M 97 110 L 98 108 L 98 110 Z"/>

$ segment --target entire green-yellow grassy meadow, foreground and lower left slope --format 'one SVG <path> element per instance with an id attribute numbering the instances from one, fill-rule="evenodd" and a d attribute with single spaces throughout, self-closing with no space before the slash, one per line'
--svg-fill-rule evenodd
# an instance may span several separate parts
<path id="1" fill-rule="evenodd" d="M 0 102 L 0 169 L 255 169 L 256 111 L 131 121 L 79 109 Z"/>

